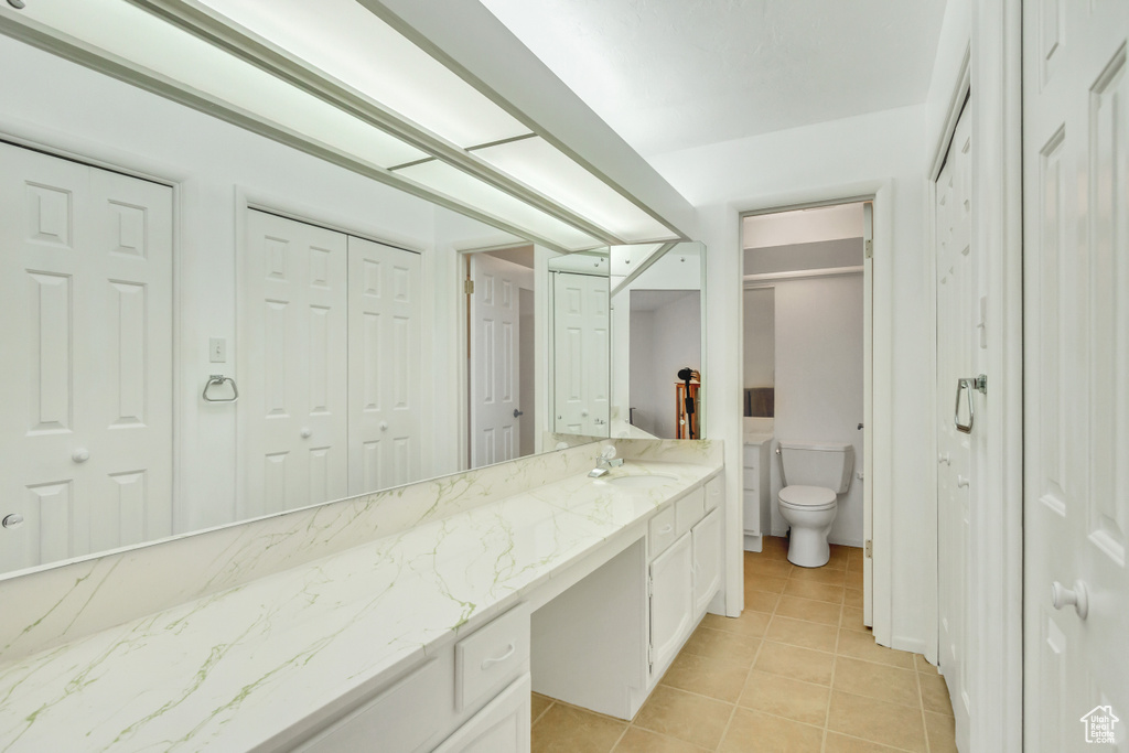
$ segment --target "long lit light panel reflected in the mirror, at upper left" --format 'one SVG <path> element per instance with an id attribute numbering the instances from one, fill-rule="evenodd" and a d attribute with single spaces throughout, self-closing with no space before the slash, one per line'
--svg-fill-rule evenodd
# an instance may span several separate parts
<path id="1" fill-rule="evenodd" d="M 415 147 L 123 0 L 32 2 L 20 16 L 359 161 L 386 168 L 427 157 Z"/>

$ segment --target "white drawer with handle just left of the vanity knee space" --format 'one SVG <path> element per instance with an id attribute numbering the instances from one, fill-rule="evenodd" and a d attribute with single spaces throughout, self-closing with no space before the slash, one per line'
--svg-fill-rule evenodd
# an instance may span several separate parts
<path id="1" fill-rule="evenodd" d="M 455 708 L 497 692 L 530 659 L 530 610 L 519 605 L 455 643 Z"/>

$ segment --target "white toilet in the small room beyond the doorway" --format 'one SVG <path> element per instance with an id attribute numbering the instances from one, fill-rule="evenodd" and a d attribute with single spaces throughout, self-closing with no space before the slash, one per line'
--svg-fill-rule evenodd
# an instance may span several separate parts
<path id="1" fill-rule="evenodd" d="M 805 568 L 828 563 L 828 533 L 835 519 L 838 496 L 850 487 L 855 448 L 848 444 L 781 441 L 780 515 L 791 526 L 788 561 Z"/>

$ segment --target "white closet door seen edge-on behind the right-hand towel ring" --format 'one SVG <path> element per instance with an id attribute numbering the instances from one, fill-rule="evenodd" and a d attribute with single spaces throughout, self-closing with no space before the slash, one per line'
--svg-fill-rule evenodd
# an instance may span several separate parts
<path id="1" fill-rule="evenodd" d="M 956 739 L 968 747 L 970 698 L 968 691 L 968 563 L 969 500 L 973 491 L 972 434 L 957 430 L 953 401 L 957 383 L 975 375 L 975 338 L 979 310 L 977 259 L 972 247 L 972 117 L 965 108 L 956 124 L 945 166 L 937 178 L 937 578 L 938 662 L 945 675 L 956 717 Z M 960 414 L 969 422 L 968 401 L 960 395 Z M 980 411 L 981 417 L 983 411 Z M 984 434 L 981 419 L 972 431 Z"/>

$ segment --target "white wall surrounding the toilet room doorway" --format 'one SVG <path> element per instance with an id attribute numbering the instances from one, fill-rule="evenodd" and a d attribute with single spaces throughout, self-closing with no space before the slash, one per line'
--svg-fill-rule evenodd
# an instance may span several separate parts
<path id="1" fill-rule="evenodd" d="M 707 257 L 704 375 L 710 385 L 707 429 L 726 443 L 727 604 L 735 614 L 741 589 L 742 436 L 742 211 L 789 203 L 873 194 L 885 204 L 876 224 L 890 228 L 889 247 L 875 259 L 875 283 L 890 295 L 876 309 L 876 327 L 892 326 L 891 388 L 877 395 L 892 414 L 889 483 L 893 504 L 890 545 L 891 637 L 901 648 L 924 650 L 936 629 L 934 563 L 922 552 L 936 539 L 933 492 L 922 484 L 930 458 L 921 436 L 930 374 L 921 264 L 926 203 L 921 155 L 925 108 L 903 107 L 830 123 L 688 149 L 653 158 L 658 172 L 698 208 Z M 889 254 L 889 257 L 882 257 Z"/>

